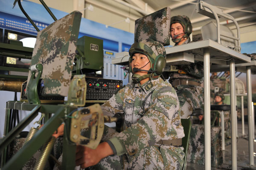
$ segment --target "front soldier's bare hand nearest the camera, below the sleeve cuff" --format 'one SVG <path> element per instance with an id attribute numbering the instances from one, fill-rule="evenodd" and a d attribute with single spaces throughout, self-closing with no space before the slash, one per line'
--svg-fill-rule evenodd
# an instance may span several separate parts
<path id="1" fill-rule="evenodd" d="M 107 142 L 102 142 L 93 150 L 81 145 L 76 146 L 76 166 L 90 167 L 99 163 L 102 158 L 113 155 L 113 150 Z"/>

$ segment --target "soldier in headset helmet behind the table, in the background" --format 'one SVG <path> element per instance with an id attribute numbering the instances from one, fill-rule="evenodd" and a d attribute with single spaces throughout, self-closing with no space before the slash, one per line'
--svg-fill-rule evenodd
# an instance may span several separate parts
<path id="1" fill-rule="evenodd" d="M 177 15 L 171 18 L 171 37 L 175 46 L 190 42 L 189 35 L 192 25 L 189 17 Z M 195 109 L 201 108 L 203 104 L 204 65 L 202 62 L 190 63 L 178 66 L 178 72 L 169 74 L 169 82 L 175 86 L 176 80 L 185 80 L 185 85 L 178 85 L 177 95 L 180 101 L 181 118 L 189 118 Z"/>

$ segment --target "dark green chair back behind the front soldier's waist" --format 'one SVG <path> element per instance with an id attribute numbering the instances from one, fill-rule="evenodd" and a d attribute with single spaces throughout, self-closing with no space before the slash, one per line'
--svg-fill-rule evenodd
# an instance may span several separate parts
<path id="1" fill-rule="evenodd" d="M 185 170 L 186 167 L 186 156 L 188 152 L 188 147 L 189 147 L 189 136 L 190 136 L 190 130 L 191 130 L 191 122 L 189 119 L 181 119 L 181 124 L 183 126 L 183 130 L 185 133 L 185 137 L 182 138 L 182 146 L 184 148 L 184 164 L 183 164 L 183 170 Z"/>

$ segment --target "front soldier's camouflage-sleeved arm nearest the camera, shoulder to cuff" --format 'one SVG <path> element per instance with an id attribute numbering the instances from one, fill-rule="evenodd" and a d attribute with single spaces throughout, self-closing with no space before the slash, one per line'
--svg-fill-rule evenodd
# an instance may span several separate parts
<path id="1" fill-rule="evenodd" d="M 135 158 L 143 148 L 154 145 L 164 138 L 167 133 L 170 139 L 177 138 L 177 133 L 168 132 L 168 124 L 177 119 L 177 126 L 180 125 L 179 103 L 177 95 L 172 88 L 163 90 L 157 94 L 157 99 L 148 111 L 140 118 L 136 124 L 119 133 L 109 141 L 112 143 L 112 150 L 116 155 L 126 154 L 128 161 Z M 111 144 L 110 144 L 111 146 Z M 113 148 L 114 147 L 114 148 Z"/>

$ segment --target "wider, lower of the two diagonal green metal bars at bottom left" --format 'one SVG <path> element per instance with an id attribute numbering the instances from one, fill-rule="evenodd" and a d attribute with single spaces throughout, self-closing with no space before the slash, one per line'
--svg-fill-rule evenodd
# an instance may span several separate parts
<path id="1" fill-rule="evenodd" d="M 54 133 L 61 125 L 65 116 L 65 107 L 58 109 L 49 121 L 26 143 L 19 152 L 3 167 L 3 170 L 19 170 L 23 164 L 33 156 L 33 154 L 44 144 L 45 141 Z"/>

